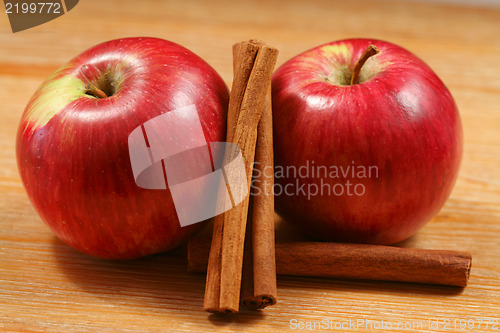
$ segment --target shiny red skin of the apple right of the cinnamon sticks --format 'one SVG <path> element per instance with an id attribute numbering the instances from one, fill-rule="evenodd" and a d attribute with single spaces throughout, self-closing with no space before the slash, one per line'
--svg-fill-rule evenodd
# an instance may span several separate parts
<path id="1" fill-rule="evenodd" d="M 362 67 L 360 83 L 350 85 L 352 69 L 370 44 L 380 53 Z M 445 203 L 462 156 L 461 121 L 443 82 L 409 51 L 370 39 L 325 44 L 283 64 L 273 75 L 272 94 L 276 188 L 304 184 L 314 192 L 322 181 L 331 189 L 309 200 L 291 187 L 293 195 L 275 191 L 277 213 L 305 233 L 393 244 L 418 231 Z M 316 178 L 278 177 L 278 168 L 307 161 L 376 169 L 365 178 L 324 172 Z M 339 187 L 333 192 L 337 183 L 343 193 Z M 355 195 L 352 184 L 362 184 L 363 195 Z"/>

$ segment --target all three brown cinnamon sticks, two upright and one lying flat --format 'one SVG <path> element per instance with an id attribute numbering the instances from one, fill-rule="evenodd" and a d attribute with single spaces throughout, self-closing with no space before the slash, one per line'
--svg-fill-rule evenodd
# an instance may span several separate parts
<path id="1" fill-rule="evenodd" d="M 236 187 L 249 193 L 253 176 L 259 193 L 216 216 L 211 239 L 195 236 L 189 242 L 189 270 L 207 272 L 204 309 L 236 313 L 240 306 L 273 305 L 277 273 L 464 287 L 469 253 L 324 242 L 278 243 L 275 249 L 274 178 L 265 171 L 273 170 L 271 76 L 277 55 L 257 40 L 233 47 L 226 141 L 241 149 L 245 174 L 225 178 L 239 179 Z M 233 155 L 226 151 L 225 158 Z"/>

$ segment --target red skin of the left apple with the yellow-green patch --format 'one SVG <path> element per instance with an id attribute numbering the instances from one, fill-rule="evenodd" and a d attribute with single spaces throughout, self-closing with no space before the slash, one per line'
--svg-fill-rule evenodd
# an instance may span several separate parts
<path id="1" fill-rule="evenodd" d="M 89 83 L 114 93 L 90 96 Z M 224 141 L 228 101 L 215 70 L 175 43 L 125 38 L 83 52 L 40 86 L 19 125 L 17 162 L 33 206 L 61 240 L 91 256 L 132 259 L 180 246 L 203 223 L 181 227 L 168 189 L 136 185 L 128 136 L 195 104 L 207 141 Z"/>

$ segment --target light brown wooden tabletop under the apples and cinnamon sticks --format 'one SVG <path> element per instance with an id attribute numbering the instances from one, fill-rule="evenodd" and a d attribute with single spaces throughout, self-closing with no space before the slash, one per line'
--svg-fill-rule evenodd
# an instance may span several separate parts
<path id="1" fill-rule="evenodd" d="M 84 0 L 52 22 L 13 34 L 0 13 L 0 331 L 283 332 L 294 320 L 326 320 L 333 326 L 328 331 L 352 330 L 335 330 L 335 323 L 349 320 L 407 327 L 421 321 L 420 331 L 427 331 L 429 319 L 439 320 L 440 331 L 461 331 L 460 320 L 475 325 L 462 331 L 500 330 L 500 323 L 485 326 L 500 319 L 499 22 L 500 9 L 418 2 Z M 186 272 L 183 249 L 108 262 L 55 238 L 17 172 L 21 113 L 59 65 L 94 44 L 137 35 L 186 46 L 228 84 L 231 46 L 249 38 L 278 47 L 278 65 L 321 43 L 358 36 L 386 39 L 420 56 L 456 99 L 465 150 L 450 199 L 401 246 L 470 251 L 470 285 L 279 278 L 277 305 L 220 317 L 202 311 L 205 278 Z"/>

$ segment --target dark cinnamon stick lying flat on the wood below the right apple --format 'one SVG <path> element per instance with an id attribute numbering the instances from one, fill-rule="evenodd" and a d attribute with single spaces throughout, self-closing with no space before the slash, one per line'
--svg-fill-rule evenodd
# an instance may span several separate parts
<path id="1" fill-rule="evenodd" d="M 199 239 L 188 248 L 190 272 L 206 271 L 208 246 L 207 239 Z M 276 244 L 278 275 L 465 287 L 471 265 L 467 252 L 325 242 Z"/>

